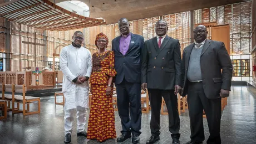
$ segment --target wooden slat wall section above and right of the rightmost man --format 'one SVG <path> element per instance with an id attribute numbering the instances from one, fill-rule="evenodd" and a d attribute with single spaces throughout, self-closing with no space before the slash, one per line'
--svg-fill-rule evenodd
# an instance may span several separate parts
<path id="1" fill-rule="evenodd" d="M 216 22 L 230 25 L 230 53 L 249 54 L 252 49 L 251 2 L 229 4 L 194 11 L 195 24 Z M 209 33 L 209 37 L 210 37 Z"/>

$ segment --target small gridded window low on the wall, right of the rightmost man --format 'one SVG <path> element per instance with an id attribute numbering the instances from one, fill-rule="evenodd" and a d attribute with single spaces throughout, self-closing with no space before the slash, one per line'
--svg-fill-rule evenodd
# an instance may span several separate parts
<path id="1" fill-rule="evenodd" d="M 233 76 L 250 76 L 250 59 L 232 60 Z"/>

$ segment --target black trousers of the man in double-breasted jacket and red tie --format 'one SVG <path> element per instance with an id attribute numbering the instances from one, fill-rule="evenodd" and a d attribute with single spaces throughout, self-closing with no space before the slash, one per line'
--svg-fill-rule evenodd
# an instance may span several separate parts
<path id="1" fill-rule="evenodd" d="M 149 101 L 151 106 L 150 130 L 152 136 L 160 135 L 160 110 L 162 96 L 164 97 L 169 115 L 169 131 L 172 137 L 180 136 L 180 117 L 178 112 L 178 98 L 174 90 L 149 90 Z"/>

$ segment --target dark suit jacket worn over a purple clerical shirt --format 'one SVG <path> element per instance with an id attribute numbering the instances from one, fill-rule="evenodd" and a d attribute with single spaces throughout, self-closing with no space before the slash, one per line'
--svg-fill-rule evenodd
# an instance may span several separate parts
<path id="1" fill-rule="evenodd" d="M 115 53 L 115 84 L 118 85 L 126 79 L 130 83 L 140 83 L 141 50 L 144 48 L 144 38 L 131 33 L 129 49 L 125 55 L 120 52 L 120 37 L 112 40 L 112 50 Z"/>

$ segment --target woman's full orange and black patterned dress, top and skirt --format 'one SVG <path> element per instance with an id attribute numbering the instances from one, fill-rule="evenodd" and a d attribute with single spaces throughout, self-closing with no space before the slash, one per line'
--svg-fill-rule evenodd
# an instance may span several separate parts
<path id="1" fill-rule="evenodd" d="M 94 53 L 92 55 L 91 109 L 88 120 L 87 139 L 97 139 L 100 142 L 116 138 L 115 115 L 111 94 L 106 95 L 109 76 L 115 76 L 114 52 Z"/>

